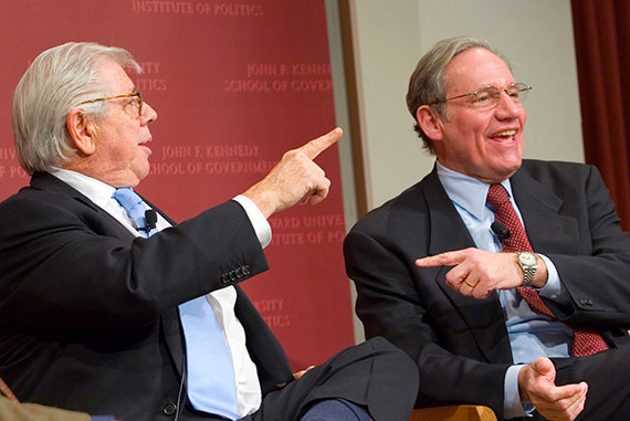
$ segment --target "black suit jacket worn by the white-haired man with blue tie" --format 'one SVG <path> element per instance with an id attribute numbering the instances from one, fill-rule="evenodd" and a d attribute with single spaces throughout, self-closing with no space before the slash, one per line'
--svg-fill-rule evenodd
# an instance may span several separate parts
<path id="1" fill-rule="evenodd" d="M 0 204 L 0 377 L 22 401 L 157 420 L 178 400 L 177 306 L 267 269 L 242 209 L 225 202 L 136 239 L 45 173 Z M 292 380 L 280 343 L 235 285 L 263 393 Z"/>

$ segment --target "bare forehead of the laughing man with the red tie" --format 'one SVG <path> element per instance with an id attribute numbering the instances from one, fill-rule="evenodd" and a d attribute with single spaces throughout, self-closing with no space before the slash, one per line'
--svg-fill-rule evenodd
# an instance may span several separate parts
<path id="1" fill-rule="evenodd" d="M 505 87 L 514 83 L 507 64 L 485 49 L 470 49 L 455 55 L 445 69 L 447 87 L 456 95 L 475 91 L 480 86 Z"/>

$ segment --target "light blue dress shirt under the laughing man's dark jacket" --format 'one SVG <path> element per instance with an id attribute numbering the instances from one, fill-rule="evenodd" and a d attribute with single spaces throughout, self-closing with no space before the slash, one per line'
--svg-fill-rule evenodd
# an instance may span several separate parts
<path id="1" fill-rule="evenodd" d="M 452 171 L 440 162 L 437 162 L 437 170 L 447 194 L 469 229 L 476 248 L 501 252 L 501 243 L 490 228 L 494 222 L 494 212 L 486 206 L 490 185 Z M 503 181 L 502 185 L 510 196 L 516 214 L 523 222 L 512 194 L 510 180 Z M 539 295 L 558 303 L 568 303 L 569 296 L 560 283 L 556 266 L 547 256 L 538 255 L 545 261 L 548 272 L 547 284 L 538 291 Z M 518 371 L 522 365 L 533 362 L 538 357 L 568 358 L 574 341 L 574 331 L 561 322 L 532 311 L 515 288 L 498 291 L 498 298 L 505 315 L 512 357 L 516 364 L 505 373 L 504 417 L 524 417 L 532 412 L 532 408 L 527 406 L 524 409 L 518 396 Z"/>

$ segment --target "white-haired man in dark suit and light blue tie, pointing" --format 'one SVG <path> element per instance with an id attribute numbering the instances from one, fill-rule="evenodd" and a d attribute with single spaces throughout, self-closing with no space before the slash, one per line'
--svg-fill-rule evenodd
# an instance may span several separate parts
<path id="1" fill-rule="evenodd" d="M 418 376 L 401 350 L 368 340 L 293 375 L 238 285 L 267 270 L 271 214 L 326 198 L 314 159 L 342 130 L 175 224 L 132 189 L 157 113 L 126 70 L 139 66 L 123 49 L 67 43 L 15 88 L 32 175 L 0 203 L 0 376 L 15 396 L 134 421 L 408 418 Z"/>

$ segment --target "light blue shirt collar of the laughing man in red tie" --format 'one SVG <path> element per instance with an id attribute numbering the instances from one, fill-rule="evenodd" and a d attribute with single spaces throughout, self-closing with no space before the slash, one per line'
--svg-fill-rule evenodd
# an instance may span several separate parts
<path id="1" fill-rule="evenodd" d="M 435 167 L 438 178 L 444 187 L 449 199 L 477 220 L 482 220 L 490 183 L 453 171 L 439 161 L 435 161 Z M 501 185 L 507 191 L 507 196 L 512 198 L 512 185 L 510 183 L 510 179 L 503 180 Z"/>

